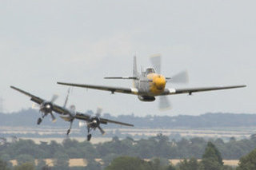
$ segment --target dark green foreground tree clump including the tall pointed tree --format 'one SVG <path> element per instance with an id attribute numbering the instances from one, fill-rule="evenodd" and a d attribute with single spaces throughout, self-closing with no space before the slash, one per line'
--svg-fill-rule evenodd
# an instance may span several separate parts
<path id="1" fill-rule="evenodd" d="M 202 160 L 198 162 L 194 157 L 190 160 L 184 159 L 177 165 L 170 164 L 166 159 L 155 158 L 150 161 L 141 160 L 138 157 L 120 156 L 114 159 L 106 170 L 232 170 L 230 166 L 224 166 L 222 156 L 218 149 L 208 142 L 202 155 Z"/>

